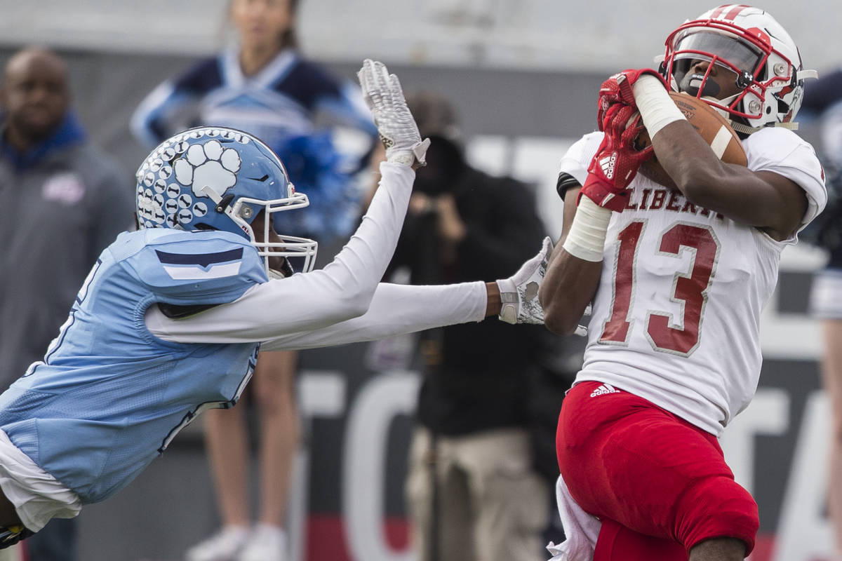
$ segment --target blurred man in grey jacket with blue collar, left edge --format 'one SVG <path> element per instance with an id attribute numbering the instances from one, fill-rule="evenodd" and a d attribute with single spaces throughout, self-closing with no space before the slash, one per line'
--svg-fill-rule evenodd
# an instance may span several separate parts
<path id="1" fill-rule="evenodd" d="M 0 390 L 44 356 L 100 251 L 131 226 L 131 176 L 93 146 L 71 108 L 56 53 L 19 50 L 0 88 Z M 56 520 L 30 559 L 75 558 L 75 527 Z"/>

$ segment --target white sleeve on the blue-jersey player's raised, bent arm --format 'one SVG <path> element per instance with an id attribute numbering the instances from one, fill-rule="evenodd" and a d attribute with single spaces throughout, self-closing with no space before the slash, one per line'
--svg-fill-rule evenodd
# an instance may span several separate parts
<path id="1" fill-rule="evenodd" d="M 265 341 L 365 314 L 395 251 L 415 178 L 411 167 L 388 162 L 381 175 L 360 227 L 323 269 L 253 286 L 231 304 L 180 320 L 151 306 L 147 328 L 167 341 Z"/>

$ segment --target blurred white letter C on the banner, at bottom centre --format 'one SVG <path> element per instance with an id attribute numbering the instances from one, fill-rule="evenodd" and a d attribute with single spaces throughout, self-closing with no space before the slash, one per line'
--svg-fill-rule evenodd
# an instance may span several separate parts
<path id="1" fill-rule="evenodd" d="M 387 437 L 397 415 L 412 415 L 418 373 L 392 371 L 371 378 L 356 395 L 345 429 L 342 516 L 351 558 L 414 561 L 411 550 L 389 547 L 383 528 Z"/>

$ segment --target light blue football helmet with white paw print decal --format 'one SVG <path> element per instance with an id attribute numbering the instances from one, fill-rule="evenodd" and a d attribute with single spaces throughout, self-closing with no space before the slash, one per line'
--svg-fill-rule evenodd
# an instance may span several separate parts
<path id="1" fill-rule="evenodd" d="M 185 130 L 157 146 L 136 179 L 141 229 L 232 232 L 258 248 L 267 272 L 270 258 L 284 257 L 288 265 L 290 257 L 300 257 L 304 272 L 315 264 L 316 241 L 274 230 L 277 236 L 270 236 L 271 214 L 309 201 L 296 193 L 278 156 L 253 135 L 222 127 Z M 255 232 L 252 224 L 261 212 L 264 228 Z"/>

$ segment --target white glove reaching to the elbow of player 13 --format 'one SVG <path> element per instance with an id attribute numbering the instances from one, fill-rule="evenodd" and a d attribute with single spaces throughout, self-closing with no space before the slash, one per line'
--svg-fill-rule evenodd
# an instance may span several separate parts
<path id="1" fill-rule="evenodd" d="M 546 261 L 552 251 L 552 241 L 544 238 L 541 251 L 520 266 L 517 273 L 497 281 L 500 288 L 500 320 L 506 323 L 544 323 L 544 310 L 538 301 L 538 288 L 546 274 Z"/>

